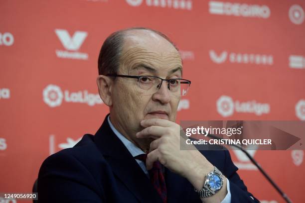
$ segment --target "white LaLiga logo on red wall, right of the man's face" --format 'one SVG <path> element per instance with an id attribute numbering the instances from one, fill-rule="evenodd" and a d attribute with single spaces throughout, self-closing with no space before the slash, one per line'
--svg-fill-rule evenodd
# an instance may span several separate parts
<path id="1" fill-rule="evenodd" d="M 229 96 L 221 96 L 216 101 L 217 112 L 223 117 L 233 115 L 234 111 L 239 113 L 255 113 L 256 115 L 267 114 L 270 112 L 269 103 L 259 103 L 255 100 L 248 102 L 233 101 Z"/>

